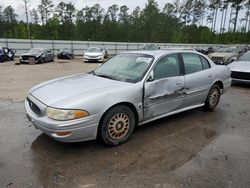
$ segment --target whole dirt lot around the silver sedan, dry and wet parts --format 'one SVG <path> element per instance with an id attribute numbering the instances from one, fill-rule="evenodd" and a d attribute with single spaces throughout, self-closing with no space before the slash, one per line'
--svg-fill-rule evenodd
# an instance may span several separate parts
<path id="1" fill-rule="evenodd" d="M 97 64 L 0 64 L 0 187 L 249 187 L 250 87 L 139 127 L 124 145 L 56 142 L 31 126 L 24 99 L 38 82 Z M 13 101 L 12 99 L 18 100 Z"/>

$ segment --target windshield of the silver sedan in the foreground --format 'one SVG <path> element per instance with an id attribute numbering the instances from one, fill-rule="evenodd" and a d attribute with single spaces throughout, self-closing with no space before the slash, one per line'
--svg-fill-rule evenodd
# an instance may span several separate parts
<path id="1" fill-rule="evenodd" d="M 153 56 L 144 54 L 119 54 L 92 73 L 109 79 L 136 83 L 146 74 L 153 59 Z"/>

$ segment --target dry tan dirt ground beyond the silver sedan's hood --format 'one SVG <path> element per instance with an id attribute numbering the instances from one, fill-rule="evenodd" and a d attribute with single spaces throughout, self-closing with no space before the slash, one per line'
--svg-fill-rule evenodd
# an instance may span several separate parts
<path id="1" fill-rule="evenodd" d="M 46 80 L 79 74 L 95 68 L 98 63 L 83 63 L 83 59 L 57 60 L 37 65 L 15 65 L 18 61 L 0 63 L 0 98 L 21 101 L 29 89 Z"/>

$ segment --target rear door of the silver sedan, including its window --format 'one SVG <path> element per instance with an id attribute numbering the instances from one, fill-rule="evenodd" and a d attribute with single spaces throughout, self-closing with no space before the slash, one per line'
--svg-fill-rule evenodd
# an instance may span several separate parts
<path id="1" fill-rule="evenodd" d="M 196 53 L 182 53 L 185 77 L 184 107 L 205 102 L 214 81 L 214 73 L 208 60 Z"/>

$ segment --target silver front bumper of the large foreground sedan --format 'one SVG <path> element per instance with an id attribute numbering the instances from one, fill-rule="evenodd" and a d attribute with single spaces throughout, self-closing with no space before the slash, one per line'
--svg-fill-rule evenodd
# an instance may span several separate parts
<path id="1" fill-rule="evenodd" d="M 29 95 L 29 100 L 36 104 L 41 109 L 41 115 L 37 115 L 32 111 L 30 105 L 25 100 L 25 108 L 28 119 L 33 123 L 35 128 L 41 130 L 51 138 L 61 142 L 80 142 L 86 140 L 94 140 L 97 136 L 98 122 L 100 117 L 89 116 L 70 121 L 56 121 L 44 115 L 46 105 L 41 103 L 32 95 Z M 57 133 L 70 132 L 67 136 L 59 136 Z"/>

